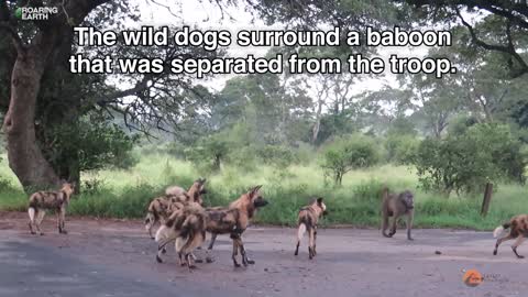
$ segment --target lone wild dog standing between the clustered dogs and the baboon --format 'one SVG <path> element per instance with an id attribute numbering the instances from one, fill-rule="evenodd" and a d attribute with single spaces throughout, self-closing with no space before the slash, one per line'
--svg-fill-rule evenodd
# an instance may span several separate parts
<path id="1" fill-rule="evenodd" d="M 300 240 L 306 231 L 309 235 L 308 255 L 310 260 L 316 256 L 316 240 L 317 240 L 317 222 L 319 218 L 327 215 L 327 206 L 322 202 L 322 198 L 316 198 L 314 201 L 299 210 L 297 216 L 297 246 L 295 248 L 295 255 L 299 254 Z"/>

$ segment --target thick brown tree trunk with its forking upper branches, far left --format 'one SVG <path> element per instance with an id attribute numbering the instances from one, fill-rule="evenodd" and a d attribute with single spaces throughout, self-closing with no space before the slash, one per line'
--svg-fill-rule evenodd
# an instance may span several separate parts
<path id="1" fill-rule="evenodd" d="M 9 110 L 3 129 L 7 135 L 9 166 L 25 190 L 57 185 L 59 177 L 38 147 L 35 133 L 35 111 L 41 79 L 46 64 L 64 44 L 72 44 L 72 30 L 98 6 L 108 0 L 70 0 L 46 22 L 36 22 L 36 33 L 29 45 L 20 38 L 18 28 L 4 24 L 16 47 L 16 61 L 11 73 Z M 2 20 L 8 19 L 2 15 Z M 63 45 L 63 47 L 62 47 Z M 55 67 L 55 65 L 51 65 Z M 78 166 L 77 166 L 78 167 Z M 69 167 L 78 175 L 78 168 Z M 72 175 L 72 174 L 69 174 Z"/>

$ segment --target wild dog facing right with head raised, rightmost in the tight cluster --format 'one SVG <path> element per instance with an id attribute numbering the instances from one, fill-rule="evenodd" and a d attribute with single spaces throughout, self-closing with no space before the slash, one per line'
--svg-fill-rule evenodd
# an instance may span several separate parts
<path id="1" fill-rule="evenodd" d="M 206 210 L 207 232 L 211 234 L 230 234 L 230 238 L 233 240 L 233 252 L 231 257 L 235 267 L 240 266 L 237 261 L 239 251 L 244 266 L 255 263 L 248 258 L 242 242 L 242 233 L 248 228 L 250 220 L 254 217 L 256 209 L 267 205 L 267 201 L 260 194 L 261 187 L 262 186 L 256 186 L 250 191 L 243 194 L 239 199 L 231 202 L 228 208 Z M 212 244 L 213 241 L 211 240 L 211 249 Z"/>

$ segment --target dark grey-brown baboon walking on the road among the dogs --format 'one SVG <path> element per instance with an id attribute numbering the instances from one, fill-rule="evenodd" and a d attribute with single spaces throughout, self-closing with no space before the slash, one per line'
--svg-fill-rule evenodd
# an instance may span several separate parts
<path id="1" fill-rule="evenodd" d="M 396 223 L 400 216 L 407 216 L 407 239 L 413 240 L 410 229 L 413 228 L 413 219 L 415 216 L 415 200 L 410 190 L 404 190 L 400 194 L 389 194 L 388 188 L 382 190 L 382 233 L 386 238 L 396 234 Z M 387 234 L 388 218 L 393 217 L 391 231 Z"/>

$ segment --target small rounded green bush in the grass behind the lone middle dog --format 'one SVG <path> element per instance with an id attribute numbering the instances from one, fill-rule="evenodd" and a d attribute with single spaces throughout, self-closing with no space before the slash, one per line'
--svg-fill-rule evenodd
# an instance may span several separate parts
<path id="1" fill-rule="evenodd" d="M 378 162 L 378 152 L 374 140 L 366 135 L 353 134 L 340 138 L 327 145 L 323 151 L 326 176 L 332 176 L 337 186 L 341 186 L 343 175 L 355 168 L 366 168 Z"/>

